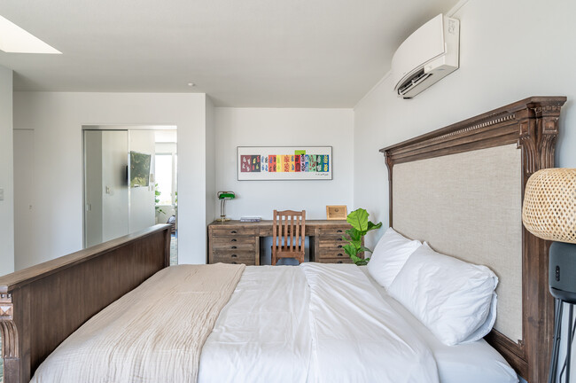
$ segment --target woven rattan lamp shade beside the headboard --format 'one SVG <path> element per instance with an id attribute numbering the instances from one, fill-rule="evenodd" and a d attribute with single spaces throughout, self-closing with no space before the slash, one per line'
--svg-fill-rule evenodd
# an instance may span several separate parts
<path id="1" fill-rule="evenodd" d="M 576 243 L 576 168 L 546 168 L 526 184 L 522 222 L 536 237 Z"/>

